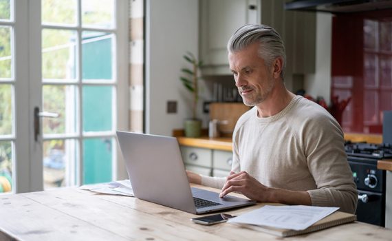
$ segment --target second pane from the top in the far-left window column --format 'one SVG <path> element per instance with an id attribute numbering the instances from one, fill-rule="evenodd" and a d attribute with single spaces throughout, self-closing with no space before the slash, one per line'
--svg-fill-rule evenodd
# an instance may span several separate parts
<path id="1" fill-rule="evenodd" d="M 11 78 L 11 28 L 0 26 L 0 78 Z"/>

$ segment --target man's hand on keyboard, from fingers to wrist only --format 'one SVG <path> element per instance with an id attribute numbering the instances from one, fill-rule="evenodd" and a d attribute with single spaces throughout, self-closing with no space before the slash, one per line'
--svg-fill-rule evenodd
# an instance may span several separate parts
<path id="1" fill-rule="evenodd" d="M 230 171 L 230 176 L 228 176 L 219 197 L 223 198 L 228 193 L 232 191 L 237 191 L 252 200 L 265 202 L 266 200 L 263 200 L 262 197 L 265 196 L 265 192 L 267 190 L 268 187 L 262 185 L 258 180 L 250 176 L 246 171 L 241 171 L 237 174 L 233 171 Z"/>

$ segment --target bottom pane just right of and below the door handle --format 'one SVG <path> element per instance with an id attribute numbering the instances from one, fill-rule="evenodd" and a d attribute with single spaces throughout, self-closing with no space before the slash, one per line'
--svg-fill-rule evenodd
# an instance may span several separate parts
<path id="1" fill-rule="evenodd" d="M 76 140 L 45 140 L 43 142 L 44 189 L 76 185 L 77 160 Z"/>

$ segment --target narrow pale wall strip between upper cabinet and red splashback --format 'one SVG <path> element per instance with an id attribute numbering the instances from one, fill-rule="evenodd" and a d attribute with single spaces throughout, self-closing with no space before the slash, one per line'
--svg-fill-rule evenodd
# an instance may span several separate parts
<path id="1" fill-rule="evenodd" d="M 306 74 L 304 89 L 307 94 L 322 96 L 327 103 L 331 95 L 331 40 L 332 14 L 316 14 L 316 70 L 315 74 Z"/>

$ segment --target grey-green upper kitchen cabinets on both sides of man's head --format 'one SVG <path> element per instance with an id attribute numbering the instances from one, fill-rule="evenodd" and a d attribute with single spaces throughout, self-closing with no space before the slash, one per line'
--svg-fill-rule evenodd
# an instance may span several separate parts
<path id="1" fill-rule="evenodd" d="M 246 23 L 275 28 L 285 42 L 288 74 L 311 74 L 316 59 L 316 14 L 284 10 L 284 0 L 200 1 L 199 56 L 202 74 L 231 75 L 226 44 Z"/>

